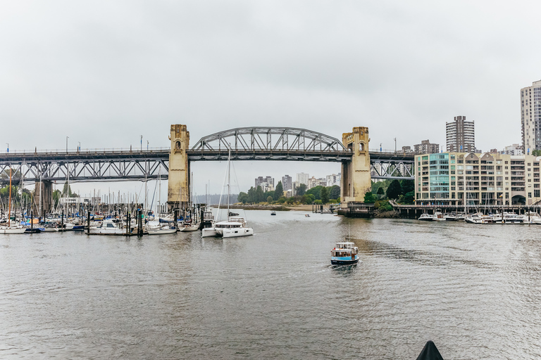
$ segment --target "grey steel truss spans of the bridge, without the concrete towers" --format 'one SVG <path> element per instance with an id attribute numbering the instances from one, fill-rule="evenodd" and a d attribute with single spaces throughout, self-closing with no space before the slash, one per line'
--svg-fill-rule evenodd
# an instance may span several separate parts
<path id="1" fill-rule="evenodd" d="M 189 162 L 227 160 L 348 162 L 352 150 L 332 136 L 291 127 L 240 127 L 204 136 L 186 150 Z M 168 179 L 170 148 L 31 150 L 0 154 L 0 184 L 11 167 L 20 181 Z M 413 179 L 413 155 L 370 152 L 373 179 Z"/>

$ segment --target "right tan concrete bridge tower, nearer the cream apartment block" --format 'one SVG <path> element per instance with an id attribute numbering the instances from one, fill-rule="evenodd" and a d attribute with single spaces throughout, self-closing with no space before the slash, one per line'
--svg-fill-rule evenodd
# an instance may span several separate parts
<path id="1" fill-rule="evenodd" d="M 368 127 L 354 127 L 352 132 L 342 134 L 342 143 L 353 153 L 351 161 L 342 162 L 342 203 L 362 202 L 364 194 L 372 189 L 369 142 Z"/>

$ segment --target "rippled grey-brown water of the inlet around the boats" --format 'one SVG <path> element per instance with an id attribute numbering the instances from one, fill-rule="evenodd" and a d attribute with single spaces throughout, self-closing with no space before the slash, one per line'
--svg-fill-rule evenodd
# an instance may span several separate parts
<path id="1" fill-rule="evenodd" d="M 1 359 L 539 359 L 541 226 L 247 212 L 256 235 L 0 237 Z M 330 266 L 351 231 L 356 266 Z"/>

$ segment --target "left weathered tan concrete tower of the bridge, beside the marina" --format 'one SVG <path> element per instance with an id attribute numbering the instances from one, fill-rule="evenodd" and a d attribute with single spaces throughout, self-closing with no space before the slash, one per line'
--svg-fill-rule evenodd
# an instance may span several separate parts
<path id="1" fill-rule="evenodd" d="M 167 186 L 168 212 L 186 207 L 189 201 L 189 131 L 186 125 L 171 125 L 169 180 Z"/>

